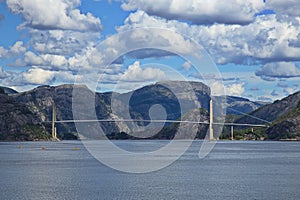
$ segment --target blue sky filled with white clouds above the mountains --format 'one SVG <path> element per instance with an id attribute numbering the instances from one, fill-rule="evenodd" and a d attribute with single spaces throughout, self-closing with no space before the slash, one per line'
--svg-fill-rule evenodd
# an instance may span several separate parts
<path id="1" fill-rule="evenodd" d="M 191 80 L 274 101 L 300 90 L 299 13 L 298 0 L 0 0 L 0 85 Z"/>

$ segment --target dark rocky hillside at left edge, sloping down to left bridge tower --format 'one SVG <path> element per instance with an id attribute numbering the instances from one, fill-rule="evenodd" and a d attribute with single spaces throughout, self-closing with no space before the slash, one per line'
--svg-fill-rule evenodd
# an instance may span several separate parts
<path id="1" fill-rule="evenodd" d="M 17 103 L 7 94 L 0 94 L 0 140 L 24 141 L 49 139 L 39 117 L 26 105 Z"/>

